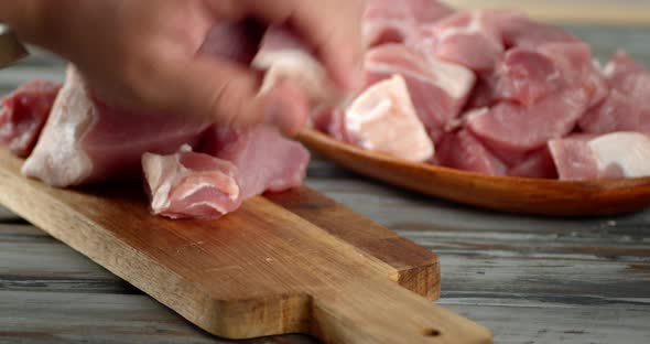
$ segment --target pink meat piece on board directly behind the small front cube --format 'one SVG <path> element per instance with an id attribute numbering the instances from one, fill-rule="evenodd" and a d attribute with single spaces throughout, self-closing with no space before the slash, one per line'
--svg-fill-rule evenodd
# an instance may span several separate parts
<path id="1" fill-rule="evenodd" d="M 242 200 L 302 185 L 310 162 L 301 143 L 267 126 L 247 131 L 212 128 L 201 151 L 232 162 Z"/>

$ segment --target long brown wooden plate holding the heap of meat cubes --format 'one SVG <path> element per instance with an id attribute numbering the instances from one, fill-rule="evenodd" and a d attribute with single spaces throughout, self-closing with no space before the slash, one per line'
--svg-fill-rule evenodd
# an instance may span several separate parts
<path id="1" fill-rule="evenodd" d="M 426 195 L 495 211 L 593 216 L 631 213 L 650 205 L 650 178 L 567 182 L 488 176 L 396 159 L 315 130 L 303 131 L 299 140 L 357 173 Z"/>

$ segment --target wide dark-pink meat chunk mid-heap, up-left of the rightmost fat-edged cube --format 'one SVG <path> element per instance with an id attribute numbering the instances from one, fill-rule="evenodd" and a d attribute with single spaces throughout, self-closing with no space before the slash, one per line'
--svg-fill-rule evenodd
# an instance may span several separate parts
<path id="1" fill-rule="evenodd" d="M 570 133 L 587 106 L 582 89 L 570 89 L 529 107 L 501 101 L 468 118 L 467 126 L 497 157 L 511 163 Z"/>

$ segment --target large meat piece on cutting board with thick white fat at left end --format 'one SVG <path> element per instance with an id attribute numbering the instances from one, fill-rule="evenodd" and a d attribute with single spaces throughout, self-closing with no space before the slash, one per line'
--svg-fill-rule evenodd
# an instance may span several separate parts
<path id="1" fill-rule="evenodd" d="M 94 101 L 71 66 L 22 173 L 62 187 L 133 178 L 143 153 L 175 152 L 194 143 L 209 125 L 187 116 L 117 110 Z"/>

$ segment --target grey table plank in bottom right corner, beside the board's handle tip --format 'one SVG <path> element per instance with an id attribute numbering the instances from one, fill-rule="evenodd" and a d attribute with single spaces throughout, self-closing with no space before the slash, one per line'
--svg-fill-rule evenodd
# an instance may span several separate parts
<path id="1" fill-rule="evenodd" d="M 520 299 L 445 299 L 495 332 L 495 343 L 650 343 L 648 303 L 565 304 Z"/>

